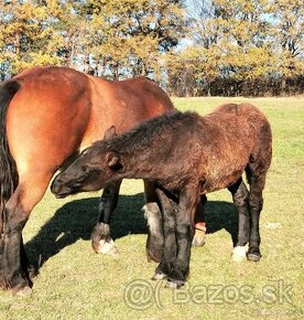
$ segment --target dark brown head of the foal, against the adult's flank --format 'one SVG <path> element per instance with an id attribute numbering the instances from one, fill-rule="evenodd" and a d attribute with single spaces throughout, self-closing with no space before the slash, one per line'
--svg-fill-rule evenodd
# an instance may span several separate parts
<path id="1" fill-rule="evenodd" d="M 97 191 L 116 178 L 119 179 L 119 172 L 121 172 L 119 154 L 107 150 L 107 141 L 99 141 L 85 149 L 67 169 L 56 175 L 51 191 L 56 198 Z"/>

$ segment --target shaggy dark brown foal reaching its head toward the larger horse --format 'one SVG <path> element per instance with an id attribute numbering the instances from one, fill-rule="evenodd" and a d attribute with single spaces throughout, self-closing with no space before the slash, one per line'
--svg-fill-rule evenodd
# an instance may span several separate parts
<path id="1" fill-rule="evenodd" d="M 52 192 L 66 196 L 122 178 L 154 181 L 164 236 L 154 277 L 166 277 L 170 286 L 180 287 L 188 274 L 193 221 L 202 194 L 229 189 L 239 213 L 237 246 L 249 243 L 248 259 L 260 259 L 259 215 L 271 140 L 264 115 L 248 104 L 224 105 L 205 117 L 176 111 L 96 142 L 56 177 Z M 249 192 L 241 179 L 245 171 Z"/>

